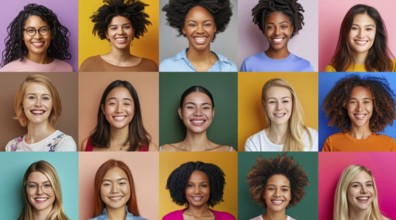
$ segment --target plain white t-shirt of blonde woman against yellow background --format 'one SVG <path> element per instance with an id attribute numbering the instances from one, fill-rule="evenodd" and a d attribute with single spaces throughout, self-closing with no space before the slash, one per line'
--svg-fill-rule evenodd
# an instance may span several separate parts
<path id="1" fill-rule="evenodd" d="M 312 148 L 309 142 L 309 136 L 304 132 L 304 151 L 318 151 L 318 132 L 312 128 L 308 128 L 308 130 L 312 137 Z M 261 130 L 246 140 L 245 151 L 283 151 L 283 144 L 272 143 L 268 139 L 265 130 Z"/>

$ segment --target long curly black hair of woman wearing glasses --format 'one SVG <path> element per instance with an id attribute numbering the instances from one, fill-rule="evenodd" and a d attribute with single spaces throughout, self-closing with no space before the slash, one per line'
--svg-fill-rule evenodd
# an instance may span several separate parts
<path id="1" fill-rule="evenodd" d="M 3 51 L 1 66 L 17 59 L 23 60 L 28 53 L 23 41 L 23 29 L 25 21 L 33 15 L 39 16 L 50 27 L 52 40 L 47 56 L 60 60 L 71 59 L 71 54 L 69 53 L 69 30 L 59 22 L 58 17 L 51 9 L 43 5 L 28 4 L 7 27 L 8 36 L 5 39 L 6 47 Z"/>

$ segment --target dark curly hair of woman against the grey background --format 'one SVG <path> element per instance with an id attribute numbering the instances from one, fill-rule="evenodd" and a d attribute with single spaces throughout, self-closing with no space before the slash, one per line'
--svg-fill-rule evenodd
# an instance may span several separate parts
<path id="1" fill-rule="evenodd" d="M 162 11 L 166 12 L 168 24 L 179 31 L 178 36 L 184 36 L 183 27 L 186 15 L 195 6 L 201 6 L 213 15 L 216 24 L 213 40 L 217 33 L 225 31 L 232 16 L 232 6 L 229 0 L 169 0 Z"/>

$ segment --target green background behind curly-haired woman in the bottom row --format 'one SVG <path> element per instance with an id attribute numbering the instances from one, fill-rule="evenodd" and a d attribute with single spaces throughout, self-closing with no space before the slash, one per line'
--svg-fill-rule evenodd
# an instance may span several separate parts
<path id="1" fill-rule="evenodd" d="M 253 201 L 246 181 L 247 174 L 256 164 L 256 158 L 274 158 L 282 153 L 238 153 L 238 219 L 251 219 L 265 212 L 265 209 Z M 318 155 L 316 152 L 287 153 L 296 160 L 308 176 L 310 185 L 305 187 L 305 196 L 296 205 L 286 209 L 286 214 L 295 219 L 318 219 Z M 263 183 L 264 184 L 264 183 Z"/>

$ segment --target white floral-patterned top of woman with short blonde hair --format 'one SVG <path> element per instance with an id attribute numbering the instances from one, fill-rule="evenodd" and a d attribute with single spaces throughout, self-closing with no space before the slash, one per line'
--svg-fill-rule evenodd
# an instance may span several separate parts
<path id="1" fill-rule="evenodd" d="M 5 147 L 6 151 L 41 151 L 41 152 L 54 152 L 54 151 L 77 151 L 76 142 L 69 135 L 56 130 L 45 139 L 28 144 L 25 142 L 26 135 L 19 136 L 8 142 Z"/>

